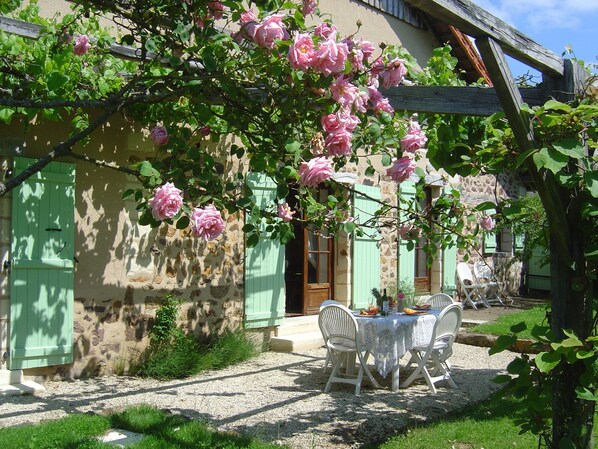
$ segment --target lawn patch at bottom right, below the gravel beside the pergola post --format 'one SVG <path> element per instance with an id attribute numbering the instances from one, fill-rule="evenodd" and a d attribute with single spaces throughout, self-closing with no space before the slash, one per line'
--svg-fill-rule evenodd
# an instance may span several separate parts
<path id="1" fill-rule="evenodd" d="M 521 401 L 494 397 L 448 419 L 414 427 L 380 445 L 381 449 L 532 448 L 535 435 L 519 435 L 513 420 L 523 413 Z"/>

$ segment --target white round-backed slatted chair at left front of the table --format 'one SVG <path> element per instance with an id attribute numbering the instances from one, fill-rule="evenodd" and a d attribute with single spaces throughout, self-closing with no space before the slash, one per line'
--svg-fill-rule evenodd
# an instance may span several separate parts
<path id="1" fill-rule="evenodd" d="M 380 388 L 368 369 L 367 359 L 370 353 L 362 347 L 359 341 L 357 320 L 351 310 L 341 304 L 324 306 L 320 309 L 318 324 L 332 361 L 332 373 L 324 391 L 330 391 L 333 383 L 346 383 L 355 385 L 355 396 L 359 396 L 364 373 L 376 388 Z M 357 375 L 350 370 L 352 358 L 359 361 Z M 342 372 L 343 367 L 345 372 Z"/>

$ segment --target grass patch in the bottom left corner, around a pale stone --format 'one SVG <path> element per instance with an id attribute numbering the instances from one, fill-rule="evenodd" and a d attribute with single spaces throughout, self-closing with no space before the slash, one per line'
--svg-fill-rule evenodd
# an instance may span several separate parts
<path id="1" fill-rule="evenodd" d="M 0 428 L 2 449 L 114 449 L 97 440 L 110 428 L 146 437 L 129 449 L 280 449 L 255 438 L 215 432 L 201 422 L 171 415 L 155 407 L 137 405 L 110 416 L 72 415 L 56 421 Z"/>

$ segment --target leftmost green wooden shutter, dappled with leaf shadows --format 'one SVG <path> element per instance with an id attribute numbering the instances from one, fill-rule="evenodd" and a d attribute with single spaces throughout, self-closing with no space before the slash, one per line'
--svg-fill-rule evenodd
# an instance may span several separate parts
<path id="1" fill-rule="evenodd" d="M 34 161 L 15 159 L 18 174 Z M 10 369 L 73 361 L 75 166 L 52 162 L 12 196 Z"/>

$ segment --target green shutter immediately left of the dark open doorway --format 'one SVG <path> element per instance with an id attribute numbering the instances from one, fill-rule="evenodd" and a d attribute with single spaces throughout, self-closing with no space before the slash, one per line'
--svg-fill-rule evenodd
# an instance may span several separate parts
<path id="1" fill-rule="evenodd" d="M 276 184 L 261 173 L 249 173 L 247 184 L 262 208 L 276 201 Z M 282 324 L 285 308 L 284 246 L 264 233 L 245 250 L 245 327 Z"/>

